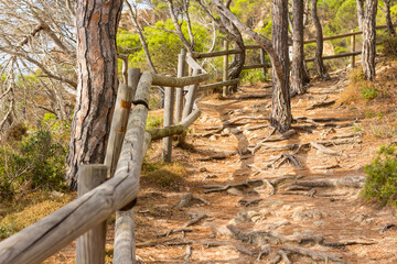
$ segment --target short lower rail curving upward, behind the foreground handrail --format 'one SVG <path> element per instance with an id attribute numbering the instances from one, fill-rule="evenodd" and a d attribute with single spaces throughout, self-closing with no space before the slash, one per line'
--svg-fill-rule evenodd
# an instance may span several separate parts
<path id="1" fill-rule="evenodd" d="M 160 140 L 165 136 L 182 134 L 200 117 L 200 114 L 201 111 L 196 109 L 176 125 L 171 125 L 163 129 L 153 129 L 149 130 L 148 132 L 151 134 L 151 140 Z"/>

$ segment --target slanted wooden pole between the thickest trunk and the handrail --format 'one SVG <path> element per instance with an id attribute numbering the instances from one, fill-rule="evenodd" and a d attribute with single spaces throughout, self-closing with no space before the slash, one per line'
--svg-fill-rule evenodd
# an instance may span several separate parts
<path id="1" fill-rule="evenodd" d="M 109 177 L 111 177 L 116 170 L 117 161 L 120 155 L 122 141 L 127 130 L 131 100 L 132 88 L 126 85 L 119 85 L 105 156 L 105 165 L 109 168 Z"/>

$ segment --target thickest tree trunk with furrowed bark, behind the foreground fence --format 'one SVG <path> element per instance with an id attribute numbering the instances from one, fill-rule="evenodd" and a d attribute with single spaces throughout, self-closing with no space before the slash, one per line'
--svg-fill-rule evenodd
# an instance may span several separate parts
<path id="1" fill-rule="evenodd" d="M 78 86 L 66 179 L 76 188 L 78 164 L 105 160 L 117 79 L 116 33 L 122 0 L 77 1 Z"/>

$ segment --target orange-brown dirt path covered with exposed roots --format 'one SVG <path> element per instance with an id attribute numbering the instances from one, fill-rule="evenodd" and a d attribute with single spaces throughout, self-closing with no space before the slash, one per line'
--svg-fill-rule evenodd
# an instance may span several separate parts
<path id="1" fill-rule="evenodd" d="M 357 110 L 332 105 L 344 86 L 334 77 L 292 99 L 298 122 L 283 140 L 268 125 L 268 98 L 202 101 L 203 114 L 187 136 L 194 150 L 176 148 L 173 155 L 187 167 L 184 186 L 167 193 L 142 188 L 141 263 L 397 263 L 397 230 L 380 231 L 396 222 L 394 211 L 358 196 L 363 166 L 378 144 L 363 142 L 354 129 L 366 122 Z M 308 110 L 324 101 L 331 106 Z M 186 193 L 203 200 L 178 206 Z M 184 232 L 167 234 L 178 229 Z"/>

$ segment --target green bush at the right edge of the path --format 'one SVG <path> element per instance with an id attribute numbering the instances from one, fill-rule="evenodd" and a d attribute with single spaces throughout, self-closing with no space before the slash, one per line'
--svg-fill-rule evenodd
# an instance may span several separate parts
<path id="1" fill-rule="evenodd" d="M 372 164 L 365 166 L 366 184 L 362 195 L 375 199 L 382 206 L 396 206 L 397 152 L 395 145 L 382 146 Z"/>

